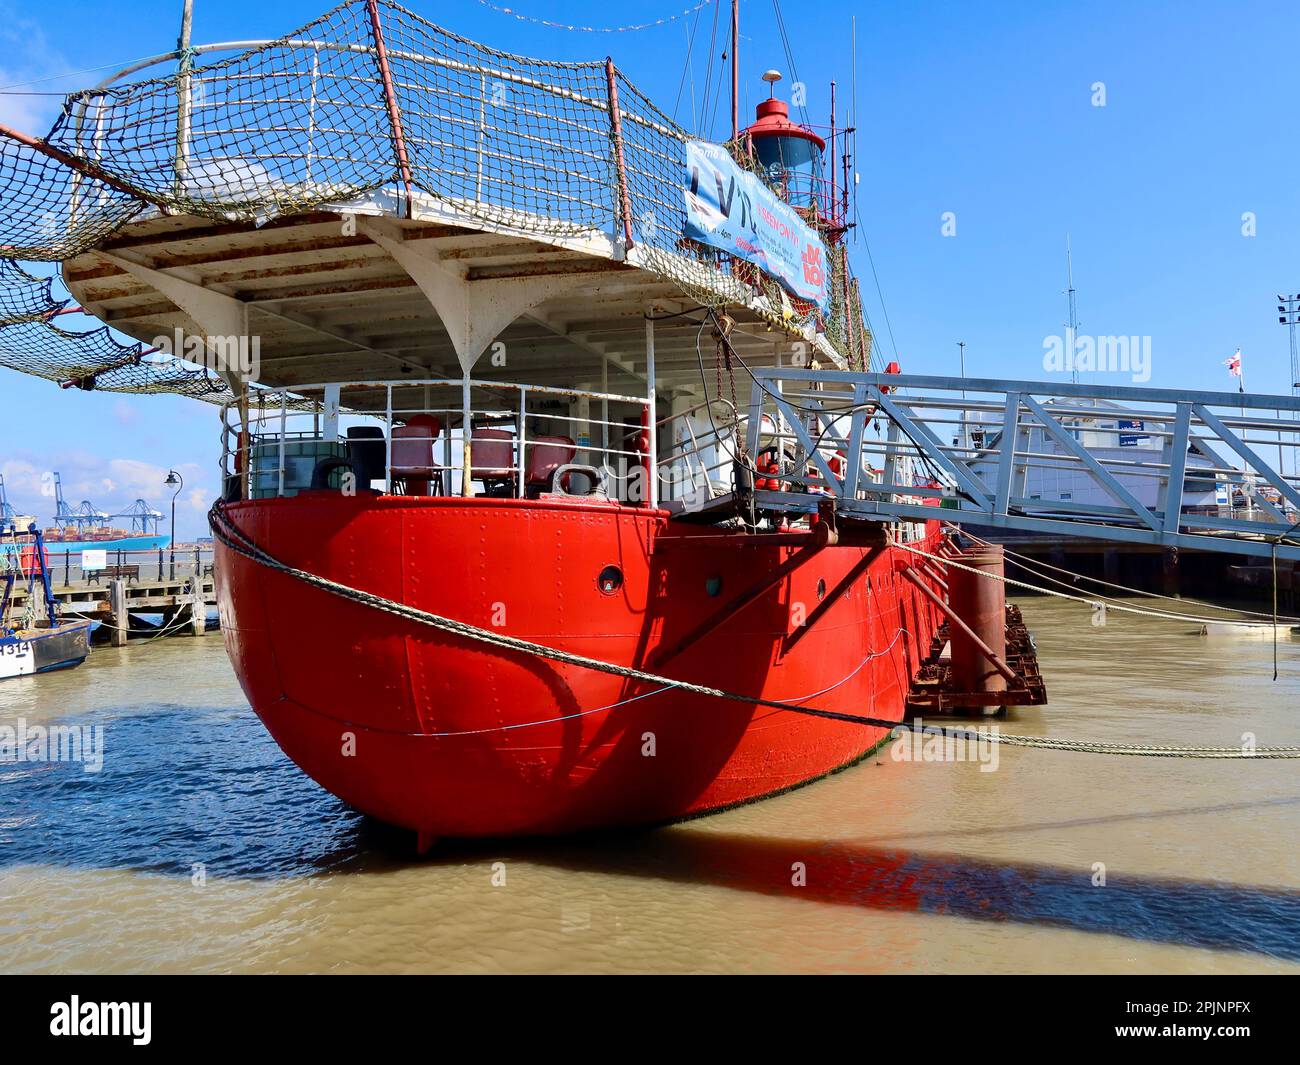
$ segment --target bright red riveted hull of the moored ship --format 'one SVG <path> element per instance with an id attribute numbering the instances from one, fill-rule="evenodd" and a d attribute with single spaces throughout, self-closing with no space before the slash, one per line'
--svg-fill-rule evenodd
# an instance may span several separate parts
<path id="1" fill-rule="evenodd" d="M 433 614 L 729 692 L 888 720 L 902 718 L 939 623 L 898 575 L 904 553 L 829 546 L 699 635 L 702 622 L 807 549 L 809 533 L 681 527 L 663 512 L 606 503 L 334 493 L 235 503 L 226 514 L 282 562 Z M 598 580 L 611 566 L 621 572 L 612 592 Z M 425 836 L 681 818 L 822 776 L 887 735 L 443 633 L 220 542 L 217 575 L 230 658 L 276 741 L 350 805 Z"/>

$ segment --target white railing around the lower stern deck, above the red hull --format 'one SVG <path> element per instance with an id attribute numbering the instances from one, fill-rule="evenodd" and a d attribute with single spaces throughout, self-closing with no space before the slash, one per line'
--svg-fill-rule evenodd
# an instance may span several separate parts
<path id="1" fill-rule="evenodd" d="M 222 408 L 222 481 L 255 499 L 315 486 L 638 503 L 647 410 L 644 397 L 460 378 L 261 390 L 243 434 Z"/>

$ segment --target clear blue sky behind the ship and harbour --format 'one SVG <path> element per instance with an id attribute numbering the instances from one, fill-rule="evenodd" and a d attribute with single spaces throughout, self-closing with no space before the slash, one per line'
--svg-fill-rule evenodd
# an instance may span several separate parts
<path id="1" fill-rule="evenodd" d="M 510 4 L 592 26 L 647 22 L 690 5 Z M 524 22 L 478 0 L 407 7 L 525 55 L 610 53 L 670 112 L 696 18 L 589 34 Z M 276 36 L 325 8 L 322 0 L 196 0 L 195 40 Z M 0 85 L 48 92 L 92 83 L 100 73 L 30 85 L 172 48 L 179 9 L 179 0 L 0 0 Z M 824 0 L 815 17 L 810 10 L 784 5 L 815 122 L 826 121 L 832 77 L 841 108 L 848 105 L 857 16 L 862 226 L 853 257 L 878 345 L 890 358 L 897 346 L 905 369 L 956 373 L 957 341 L 966 341 L 968 373 L 1041 378 L 1044 338 L 1060 334 L 1065 320 L 1069 234 L 1080 330 L 1149 335 L 1150 384 L 1232 388 L 1222 360 L 1240 346 L 1251 390 L 1288 388 L 1287 335 L 1274 295 L 1300 291 L 1294 10 L 1196 0 Z M 792 75 L 772 5 L 745 0 L 741 12 L 748 116 L 766 95 L 762 70 Z M 711 25 L 708 7 L 693 60 L 697 101 Z M 1093 105 L 1097 82 L 1105 107 Z M 686 86 L 677 118 L 693 127 Z M 0 121 L 44 133 L 56 103 L 3 95 Z M 712 133 L 725 135 L 725 100 L 716 120 Z M 701 133 L 710 133 L 707 124 Z M 942 235 L 945 212 L 956 215 L 953 237 Z M 1243 235 L 1247 212 L 1253 237 Z M 208 404 L 68 393 L 0 371 L 0 469 L 13 501 L 40 516 L 53 510 L 36 494 L 42 471 L 61 469 L 74 502 L 88 495 L 116 506 L 144 495 L 162 508 L 161 481 L 176 467 L 187 484 L 178 532 L 198 534 L 216 492 L 217 433 Z"/>

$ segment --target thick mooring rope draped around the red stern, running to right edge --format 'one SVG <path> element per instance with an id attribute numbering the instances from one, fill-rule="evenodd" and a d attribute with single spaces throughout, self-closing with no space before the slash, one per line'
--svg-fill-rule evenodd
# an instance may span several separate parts
<path id="1" fill-rule="evenodd" d="M 805 714 L 812 718 L 827 718 L 829 720 L 846 722 L 848 724 L 887 728 L 889 731 L 909 730 L 914 732 L 928 732 L 940 736 L 972 740 L 976 743 L 1000 743 L 1009 746 L 1039 748 L 1041 750 L 1069 750 L 1084 754 L 1127 754 L 1147 758 L 1300 758 L 1300 746 L 1157 746 L 1152 744 L 1110 744 L 1087 740 L 1061 740 L 1050 736 L 1018 736 L 1004 732 L 992 732 L 989 730 L 915 726 L 910 722 L 892 722 L 885 718 L 872 718 L 862 714 L 844 714 L 837 710 L 800 706 L 797 703 L 783 702 L 779 700 L 766 700 L 758 696 L 744 696 L 737 692 L 728 692 L 706 684 L 696 684 L 689 680 L 662 676 L 659 674 L 638 670 L 632 666 L 618 666 L 612 662 L 603 662 L 598 658 L 589 658 L 584 654 L 573 654 L 572 651 L 550 648 L 545 644 L 534 644 L 530 640 L 520 640 L 516 636 L 507 636 L 500 632 L 493 632 L 490 629 L 480 628 L 478 625 L 468 624 L 467 622 L 458 622 L 454 618 L 445 618 L 439 614 L 419 610 L 417 607 L 407 606 L 406 603 L 399 603 L 382 596 L 376 596 L 372 592 L 350 588 L 346 584 L 339 584 L 338 581 L 322 577 L 318 573 L 299 570 L 295 566 L 289 566 L 287 563 L 281 562 L 268 554 L 264 549 L 259 547 L 229 519 L 225 514 L 224 505 L 220 502 L 213 503 L 212 510 L 208 511 L 208 523 L 212 527 L 213 536 L 235 554 L 350 602 L 355 602 L 373 610 L 380 610 L 386 614 L 393 614 L 398 618 L 428 625 L 442 632 L 448 632 L 467 640 L 474 640 L 481 644 L 506 648 L 520 654 L 533 654 L 538 658 L 546 658 L 552 662 L 563 662 L 564 664 L 621 676 L 628 680 L 638 680 L 645 684 L 677 688 L 682 692 L 690 692 L 692 694 L 708 696 L 711 698 L 741 702 L 750 706 L 766 706 L 772 710 L 788 710 L 793 714 Z M 900 544 L 897 546 L 904 545 Z M 948 559 L 940 560 L 948 562 Z"/>

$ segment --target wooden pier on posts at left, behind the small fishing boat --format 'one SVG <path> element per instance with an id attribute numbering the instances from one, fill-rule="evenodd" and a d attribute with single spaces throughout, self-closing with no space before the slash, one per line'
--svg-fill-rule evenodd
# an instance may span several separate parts
<path id="1" fill-rule="evenodd" d="M 207 632 L 208 607 L 217 601 L 211 573 L 161 580 L 113 577 L 103 585 L 55 585 L 53 594 L 64 618 L 79 616 L 100 622 L 109 631 L 113 646 L 124 646 L 130 637 L 131 614 L 162 615 L 162 624 L 157 629 L 135 629 L 142 636 L 168 631 L 169 635 L 203 636 Z M 27 589 L 14 588 L 10 602 L 14 611 L 21 611 L 27 603 Z"/>

